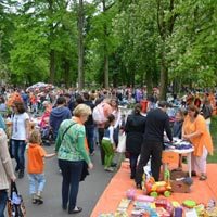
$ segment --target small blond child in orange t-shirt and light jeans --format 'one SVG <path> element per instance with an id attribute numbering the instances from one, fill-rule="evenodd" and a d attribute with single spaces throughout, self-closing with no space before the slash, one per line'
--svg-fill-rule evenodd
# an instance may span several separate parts
<path id="1" fill-rule="evenodd" d="M 46 150 L 40 144 L 40 131 L 35 129 L 30 133 L 27 149 L 27 171 L 29 180 L 29 193 L 31 194 L 33 204 L 43 203 L 41 196 L 46 183 L 43 159 L 44 157 L 52 157 L 55 155 L 55 153 L 47 154 Z"/>

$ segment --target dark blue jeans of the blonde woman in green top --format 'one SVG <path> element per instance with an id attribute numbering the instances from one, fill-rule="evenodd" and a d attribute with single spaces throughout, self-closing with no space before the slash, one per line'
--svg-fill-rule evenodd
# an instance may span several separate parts
<path id="1" fill-rule="evenodd" d="M 71 162 L 59 159 L 59 167 L 62 170 L 62 206 L 68 205 L 68 210 L 73 210 L 77 203 L 79 182 L 84 162 Z"/>

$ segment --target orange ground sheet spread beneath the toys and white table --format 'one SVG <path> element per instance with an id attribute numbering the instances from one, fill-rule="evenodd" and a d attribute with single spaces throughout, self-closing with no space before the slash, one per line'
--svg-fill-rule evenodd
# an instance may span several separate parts
<path id="1" fill-rule="evenodd" d="M 174 204 L 179 204 L 181 208 L 183 207 L 182 204 L 184 202 L 188 202 L 189 200 L 191 200 L 190 202 L 192 201 L 195 202 L 195 205 L 199 207 L 201 207 L 202 205 L 207 206 L 207 204 L 210 203 L 212 200 L 217 199 L 217 184 L 216 184 L 217 164 L 207 165 L 207 176 L 208 176 L 208 179 L 206 181 L 200 181 L 197 177 L 193 178 L 193 184 L 191 187 L 190 193 L 174 193 L 173 192 L 169 197 L 166 199 L 164 196 L 159 196 L 159 199 L 163 199 L 163 200 L 166 199 L 168 202 L 173 202 Z M 122 203 L 125 203 L 125 205 L 127 204 L 126 201 L 123 201 L 123 200 L 127 199 L 128 190 L 135 191 L 136 200 L 138 196 L 144 195 L 142 190 L 135 189 L 135 182 L 129 177 L 130 177 L 129 162 L 124 162 L 122 164 L 120 169 L 113 177 L 110 184 L 107 186 L 102 196 L 98 201 L 91 214 L 91 217 L 118 216 L 118 215 L 115 215 L 115 212 L 117 212 Z M 125 215 L 123 213 L 123 215 L 119 215 L 119 216 L 132 216 L 131 213 L 135 207 L 135 201 L 130 201 L 130 203 L 126 205 L 126 207 L 127 208 L 126 208 Z M 163 216 L 163 215 L 158 215 L 158 216 Z M 164 215 L 164 216 L 167 216 L 167 215 Z M 195 216 L 194 208 L 183 207 L 183 216 L 186 217 Z"/>

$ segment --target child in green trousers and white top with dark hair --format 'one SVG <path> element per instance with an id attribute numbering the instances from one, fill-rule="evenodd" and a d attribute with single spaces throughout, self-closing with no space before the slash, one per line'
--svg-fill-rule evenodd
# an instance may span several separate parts
<path id="1" fill-rule="evenodd" d="M 114 150 L 116 149 L 114 142 L 115 116 L 111 114 L 108 115 L 107 119 L 108 123 L 105 126 L 104 137 L 102 139 L 102 149 L 105 153 L 104 169 L 105 171 L 114 171 L 114 168 L 112 168 L 112 162 L 114 158 Z"/>

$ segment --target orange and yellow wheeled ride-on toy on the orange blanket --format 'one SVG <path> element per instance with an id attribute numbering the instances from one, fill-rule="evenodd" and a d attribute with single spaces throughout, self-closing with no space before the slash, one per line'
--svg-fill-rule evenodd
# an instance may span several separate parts
<path id="1" fill-rule="evenodd" d="M 149 168 L 144 167 L 142 190 L 145 194 L 153 197 L 156 197 L 159 194 L 164 194 L 164 196 L 168 197 L 171 194 L 170 174 L 168 169 L 164 173 L 164 180 L 165 181 L 155 181 L 154 178 L 151 177 Z"/>

